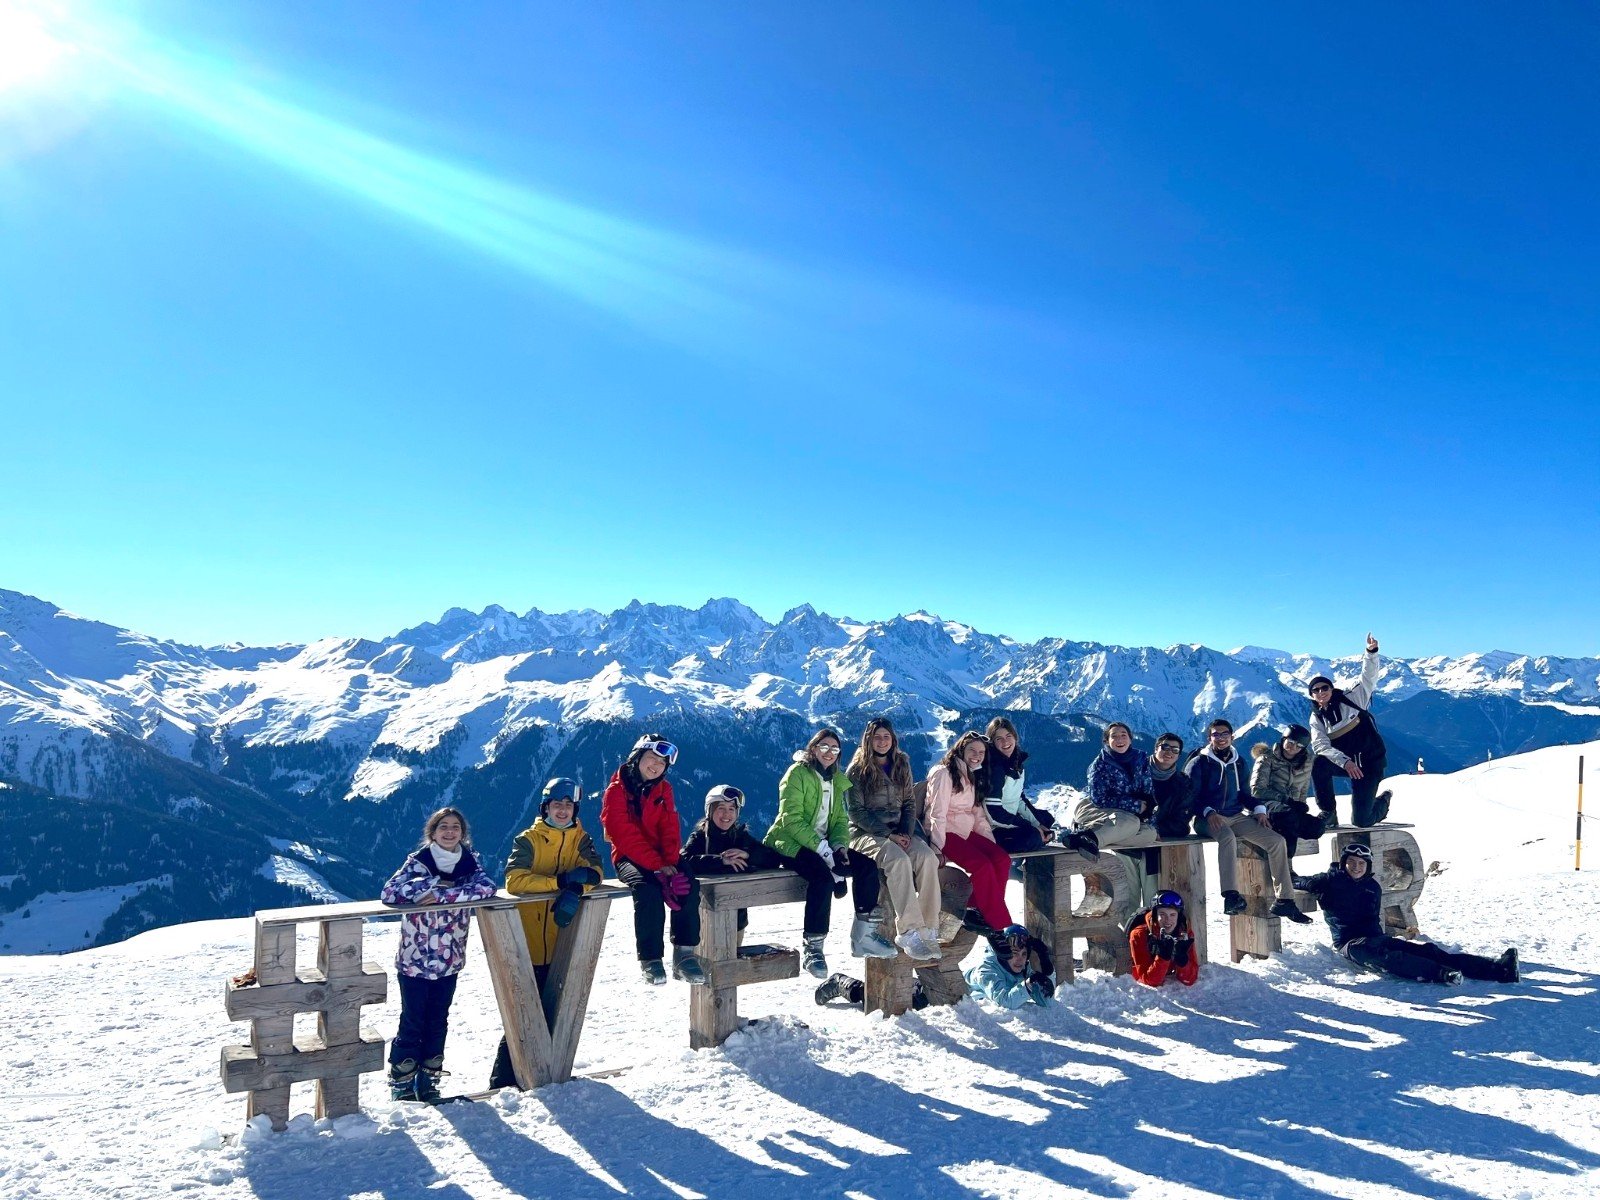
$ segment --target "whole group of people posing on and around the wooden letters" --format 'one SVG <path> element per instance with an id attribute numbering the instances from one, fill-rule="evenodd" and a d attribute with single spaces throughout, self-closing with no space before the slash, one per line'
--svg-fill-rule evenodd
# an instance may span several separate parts
<path id="1" fill-rule="evenodd" d="M 1134 976 L 1150 986 L 1170 979 L 1194 984 L 1200 958 L 1184 898 L 1155 891 L 1155 864 L 1149 861 L 1157 840 L 1184 837 L 1192 829 L 1218 842 L 1227 914 L 1245 909 L 1234 877 L 1234 843 L 1245 840 L 1266 851 L 1278 898 L 1270 912 L 1306 923 L 1310 918 L 1293 894 L 1315 894 L 1336 949 L 1352 962 L 1440 982 L 1462 974 L 1515 979 L 1515 950 L 1490 960 L 1384 936 L 1382 893 L 1363 843 L 1346 846 L 1339 862 L 1312 878 L 1290 870 L 1294 842 L 1322 835 L 1336 819 L 1334 776 L 1352 782 L 1357 826 L 1378 824 L 1387 814 L 1389 794 L 1378 792 L 1384 744 L 1366 710 L 1376 680 L 1378 643 L 1368 635 L 1360 682 L 1339 690 L 1326 677 L 1314 678 L 1310 728 L 1291 725 L 1280 741 L 1258 746 L 1248 768 L 1227 720 L 1210 723 L 1206 744 L 1181 768 L 1182 738 L 1163 733 L 1146 755 L 1133 747 L 1133 731 L 1114 722 L 1090 765 L 1088 792 L 1072 827 L 1058 827 L 1046 810 L 1029 800 L 1027 752 L 1008 718 L 995 717 L 984 733 L 958 736 L 918 786 L 893 723 L 877 717 L 867 722 L 848 765 L 842 763 L 843 739 L 829 728 L 818 730 L 795 752 L 778 786 L 778 816 L 765 837 L 757 838 L 741 821 L 744 792 L 717 784 L 706 794 L 704 818 L 685 840 L 667 778 L 678 749 L 661 734 L 645 734 L 611 776 L 600 803 L 613 869 L 634 896 L 642 978 L 654 986 L 667 982 L 670 936 L 672 978 L 706 982 L 696 954 L 701 878 L 787 869 L 806 883 L 802 965 L 822 981 L 818 1003 L 845 998 L 859 1005 L 862 981 L 832 974 L 824 957 L 834 901 L 851 898 L 850 949 L 856 957 L 904 954 L 914 963 L 933 963 L 944 957 L 938 933 L 939 867 L 952 864 L 971 878 L 963 923 L 989 941 L 982 962 L 966 971 L 973 992 L 1006 1008 L 1050 1003 L 1056 990 L 1050 947 L 1013 918 L 1005 893 L 1013 854 L 1059 843 L 1093 861 L 1104 850 L 1126 858 L 1142 904 L 1128 930 Z M 1312 789 L 1317 816 L 1306 800 Z M 517 835 L 506 864 L 507 891 L 554 893 L 549 902 L 520 907 L 541 986 L 560 930 L 578 914 L 584 891 L 602 878 L 600 854 L 579 821 L 581 798 L 574 781 L 550 779 L 538 819 Z M 485 899 L 494 890 L 470 850 L 466 816 L 442 808 L 427 819 L 422 845 L 384 885 L 382 901 L 451 904 Z M 742 938 L 742 910 L 738 920 Z M 389 1053 L 397 1099 L 438 1098 L 467 926 L 467 909 L 410 912 L 402 920 L 400 1027 Z M 914 995 L 914 1003 L 922 1006 L 926 997 Z M 514 1083 L 502 1040 L 490 1086 Z"/>

